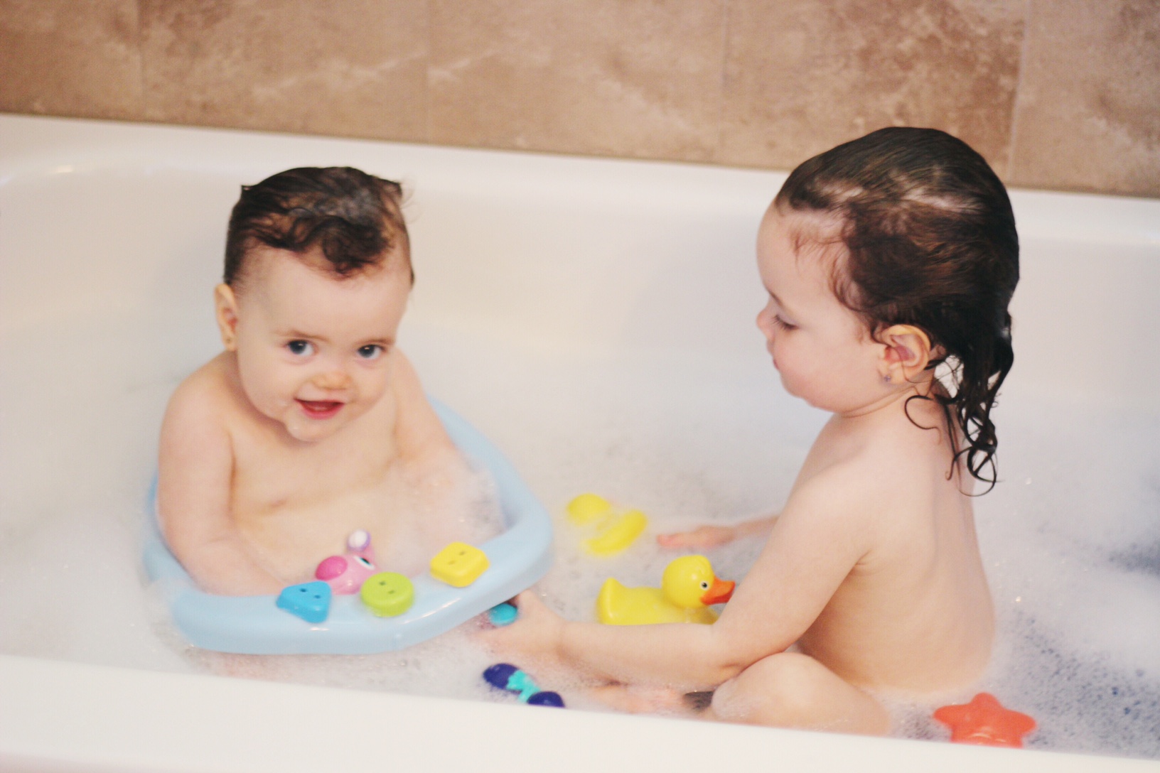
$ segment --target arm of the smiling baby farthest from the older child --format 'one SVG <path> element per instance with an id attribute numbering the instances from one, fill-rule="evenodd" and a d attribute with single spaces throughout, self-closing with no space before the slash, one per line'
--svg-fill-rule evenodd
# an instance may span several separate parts
<path id="1" fill-rule="evenodd" d="M 196 377 L 195 377 L 196 378 Z M 157 508 L 174 555 L 205 591 L 277 593 L 284 583 L 249 554 L 230 516 L 233 451 L 206 385 L 177 388 L 161 424 Z"/>

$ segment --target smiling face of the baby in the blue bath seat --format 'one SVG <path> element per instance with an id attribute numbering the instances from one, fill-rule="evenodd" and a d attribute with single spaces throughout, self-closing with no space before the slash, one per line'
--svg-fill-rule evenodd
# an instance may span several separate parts
<path id="1" fill-rule="evenodd" d="M 242 391 L 291 437 L 327 438 L 387 389 L 387 352 L 411 291 L 407 268 L 387 257 L 386 268 L 338 278 L 317 251 L 298 256 L 271 247 L 247 260 L 245 285 L 233 297 Z M 227 341 L 229 333 L 223 330 Z"/>

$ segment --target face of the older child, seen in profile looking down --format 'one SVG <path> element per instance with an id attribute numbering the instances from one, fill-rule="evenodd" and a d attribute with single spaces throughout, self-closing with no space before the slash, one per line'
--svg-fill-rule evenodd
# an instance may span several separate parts
<path id="1" fill-rule="evenodd" d="M 790 394 L 849 414 L 882 396 L 876 363 L 883 347 L 833 293 L 834 250 L 844 247 L 806 239 L 798 254 L 792 239 L 802 231 L 836 233 L 835 225 L 820 216 L 769 210 L 757 232 L 757 269 L 769 293 L 757 327 Z"/>

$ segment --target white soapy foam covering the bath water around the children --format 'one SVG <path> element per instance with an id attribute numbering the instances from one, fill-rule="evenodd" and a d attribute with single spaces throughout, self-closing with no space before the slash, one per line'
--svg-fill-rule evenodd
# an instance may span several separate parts
<path id="1" fill-rule="evenodd" d="M 510 700 L 483 685 L 492 658 L 470 626 L 367 657 L 181 643 L 142 590 L 138 534 L 161 411 L 212 355 L 212 330 L 182 341 L 172 327 L 86 322 L 82 338 L 73 322 L 10 336 L 0 351 L 0 651 Z M 590 619 L 608 576 L 657 583 L 673 556 L 652 541 L 658 531 L 776 509 L 825 421 L 788 398 L 757 355 L 580 359 L 427 327 L 406 328 L 403 345 L 425 386 L 487 433 L 553 513 L 593 490 L 650 515 L 645 537 L 610 560 L 581 554 L 586 534 L 559 519 L 541 590 L 574 619 Z M 1160 421 L 1022 394 L 1016 377 L 996 411 L 1002 482 L 976 503 L 1000 623 L 979 688 L 1036 717 L 1031 746 L 1160 757 Z M 720 576 L 740 579 L 759 548 L 709 555 Z M 925 712 L 900 709 L 902 732 L 945 737 Z"/>

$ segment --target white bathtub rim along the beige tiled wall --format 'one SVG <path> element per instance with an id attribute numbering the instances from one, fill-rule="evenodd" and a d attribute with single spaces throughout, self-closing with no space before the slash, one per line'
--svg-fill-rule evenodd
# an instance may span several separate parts
<path id="1" fill-rule="evenodd" d="M 81 141 L 80 133 L 92 132 L 96 141 Z M 174 165 L 159 147 L 177 140 L 183 153 L 196 165 Z M 223 155 L 222 144 L 238 148 Z M 586 156 L 539 151 L 477 148 L 430 143 L 376 140 L 358 137 L 327 137 L 268 132 L 248 129 L 218 129 L 99 118 L 68 118 L 0 112 L 0 187 L 29 174 L 64 174 L 116 166 L 113 161 L 133 159 L 135 167 L 197 170 L 278 163 L 289 156 L 298 163 L 326 163 L 335 154 L 349 155 L 343 146 L 358 147 L 372 156 L 398 158 L 403 163 L 421 162 L 427 174 L 425 187 L 442 188 L 454 175 L 479 175 L 490 185 L 502 189 L 527 185 L 545 170 L 574 175 L 578 185 L 606 185 L 609 196 L 619 191 L 608 182 L 623 174 L 648 183 L 648 192 L 662 199 L 679 197 L 673 182 L 708 182 L 719 188 L 722 206 L 748 200 L 755 190 L 773 197 L 789 175 L 788 170 L 732 167 L 688 161 Z M 288 150 L 290 151 L 288 153 Z M 61 156 L 66 155 L 67 159 Z M 20 161 L 17 161 L 20 159 Z M 61 165 L 63 160 L 68 163 Z M 78 160 L 82 161 L 78 163 Z M 464 165 L 462 161 L 470 160 Z M 78 169 L 78 167 L 80 167 Z M 507 178 L 491 173 L 502 168 Z M 404 185 L 408 181 L 404 180 Z M 1115 245 L 1160 245 L 1160 198 L 1080 194 L 1071 191 L 1007 188 L 1015 209 L 1021 239 L 1058 239 Z M 641 204 L 640 199 L 633 200 Z M 650 203 L 651 205 L 651 203 Z"/>

